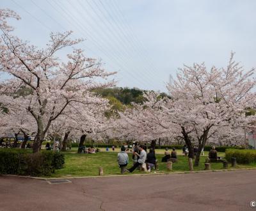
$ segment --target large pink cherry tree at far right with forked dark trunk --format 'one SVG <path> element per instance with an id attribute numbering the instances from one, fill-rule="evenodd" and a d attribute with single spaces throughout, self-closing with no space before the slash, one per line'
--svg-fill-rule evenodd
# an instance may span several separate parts
<path id="1" fill-rule="evenodd" d="M 202 65 L 184 66 L 177 74 L 177 80 L 168 85 L 173 98 L 178 121 L 188 125 L 191 135 L 198 142 L 195 166 L 198 166 L 200 152 L 218 128 L 232 127 L 236 121 L 246 121 L 247 107 L 253 106 L 255 79 L 254 68 L 245 71 L 234 61 L 231 54 L 227 68 L 212 66 L 207 71 Z"/>

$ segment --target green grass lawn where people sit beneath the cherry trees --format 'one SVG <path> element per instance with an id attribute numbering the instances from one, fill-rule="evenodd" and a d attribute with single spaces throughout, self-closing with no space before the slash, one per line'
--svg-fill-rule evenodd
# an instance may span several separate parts
<path id="1" fill-rule="evenodd" d="M 103 149 L 102 149 L 103 150 Z M 111 150 L 112 151 L 112 150 Z M 65 166 L 63 169 L 58 169 L 51 177 L 68 177 L 68 176 L 97 176 L 99 173 L 99 167 L 104 169 L 104 175 L 120 175 L 120 168 L 117 164 L 117 152 L 120 149 L 116 149 L 115 152 L 99 152 L 95 154 L 77 154 L 76 150 L 72 149 L 69 152 L 65 153 Z M 175 171 L 189 171 L 188 168 L 188 157 L 184 157 L 180 150 L 178 152 L 177 163 L 173 163 L 173 170 L 168 171 L 166 169 L 166 163 L 161 162 L 163 157 L 164 150 L 157 150 L 157 160 L 159 170 L 151 171 L 149 174 L 156 173 L 166 173 L 166 172 L 175 172 Z M 208 155 L 208 152 L 205 152 L 205 156 L 202 156 L 200 159 L 200 165 L 195 167 L 195 171 L 204 170 L 205 157 Z M 218 156 L 225 156 L 225 153 L 218 153 Z M 132 166 L 132 153 L 129 153 L 129 164 L 127 168 Z M 231 164 L 228 165 L 231 169 Z M 241 165 L 237 164 L 236 168 L 256 168 L 256 163 Z M 222 163 L 211 163 L 211 169 L 223 169 Z M 131 174 L 131 173 L 125 173 Z M 132 174 L 145 174 L 139 170 L 135 170 Z M 147 174 L 147 173 L 146 173 Z"/>

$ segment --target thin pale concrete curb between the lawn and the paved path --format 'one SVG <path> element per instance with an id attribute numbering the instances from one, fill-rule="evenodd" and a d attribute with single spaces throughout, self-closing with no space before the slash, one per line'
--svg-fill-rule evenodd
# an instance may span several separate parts
<path id="1" fill-rule="evenodd" d="M 70 176 L 70 177 L 53 177 L 44 178 L 36 176 L 20 176 L 20 175 L 0 175 L 0 176 L 13 176 L 20 178 L 30 178 L 36 180 L 68 180 L 68 179 L 80 179 L 80 178 L 108 178 L 108 177 L 118 177 L 118 176 L 154 176 L 154 175 L 176 175 L 176 174 L 187 174 L 187 173 L 210 173 L 210 172 L 221 172 L 221 171 L 243 171 L 243 170 L 256 170 L 256 168 L 241 168 L 241 169 L 216 169 L 209 171 L 175 171 L 175 172 L 164 172 L 164 173 L 150 173 L 150 174 L 140 174 L 140 175 L 104 175 L 104 176 Z"/>

